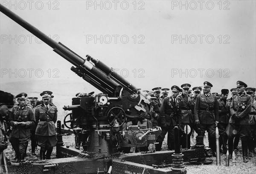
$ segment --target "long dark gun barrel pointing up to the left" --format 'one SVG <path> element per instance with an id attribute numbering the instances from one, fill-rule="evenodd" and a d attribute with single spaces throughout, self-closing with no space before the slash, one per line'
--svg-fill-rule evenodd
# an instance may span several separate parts
<path id="1" fill-rule="evenodd" d="M 71 70 L 103 93 L 106 93 L 109 96 L 121 95 L 121 93 L 124 95 L 138 93 L 136 87 L 119 74 L 113 73 L 112 68 L 106 66 L 99 60 L 93 59 L 88 55 L 87 59 L 83 59 L 65 45 L 61 44 L 61 42 L 55 42 L 46 34 L 39 31 L 33 25 L 29 24 L 1 4 L 0 11 L 52 47 L 53 51 L 58 53 L 64 59 L 75 65 L 76 67 L 71 67 Z"/>

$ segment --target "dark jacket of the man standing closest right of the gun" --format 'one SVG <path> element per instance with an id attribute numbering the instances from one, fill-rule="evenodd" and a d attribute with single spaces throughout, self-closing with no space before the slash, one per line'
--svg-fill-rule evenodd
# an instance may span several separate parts
<path id="1" fill-rule="evenodd" d="M 163 99 L 163 103 L 160 107 L 160 123 L 168 126 L 177 126 L 181 123 L 181 112 L 180 112 L 180 102 L 176 98 L 176 103 L 174 104 L 172 97 L 166 97 Z"/>

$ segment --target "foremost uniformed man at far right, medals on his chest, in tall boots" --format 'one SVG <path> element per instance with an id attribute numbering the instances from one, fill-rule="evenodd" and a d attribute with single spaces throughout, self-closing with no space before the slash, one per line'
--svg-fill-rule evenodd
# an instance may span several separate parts
<path id="1" fill-rule="evenodd" d="M 250 118 L 249 113 L 252 107 L 252 98 L 250 95 L 245 93 L 245 88 L 247 84 L 242 81 L 237 81 L 237 92 L 238 95 L 235 95 L 231 104 L 230 104 L 230 120 L 227 128 L 227 136 L 229 142 L 233 142 L 233 138 L 239 134 L 242 143 L 243 150 L 243 160 L 244 163 L 248 162 L 248 144 L 247 140 L 250 134 Z M 229 153 L 233 152 L 233 144 L 228 143 Z"/>

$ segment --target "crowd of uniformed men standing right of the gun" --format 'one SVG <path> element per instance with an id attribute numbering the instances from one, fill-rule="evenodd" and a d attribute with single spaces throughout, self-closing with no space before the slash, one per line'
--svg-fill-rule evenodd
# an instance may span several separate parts
<path id="1" fill-rule="evenodd" d="M 201 87 L 190 90 L 190 84 L 182 84 L 181 88 L 172 86 L 170 97 L 167 97 L 168 88 L 156 87 L 152 91 L 144 91 L 153 106 L 151 123 L 153 127 L 160 126 L 162 129 L 155 145 L 156 151 L 161 150 L 167 132 L 168 148 L 174 150 L 174 127 L 178 126 L 183 149 L 190 149 L 190 136 L 194 131 L 201 135 L 207 131 L 209 147 L 212 155 L 216 156 L 215 130 L 218 127 L 223 154 L 228 150 L 231 159 L 241 138 L 244 163 L 248 162 L 248 149 L 249 157 L 256 156 L 256 89 L 247 87 L 242 81 L 237 81 L 236 85 L 231 90 L 222 89 L 221 96 L 211 93 L 213 85 L 208 81 L 204 82 L 203 93 Z M 232 97 L 227 99 L 229 91 Z"/>

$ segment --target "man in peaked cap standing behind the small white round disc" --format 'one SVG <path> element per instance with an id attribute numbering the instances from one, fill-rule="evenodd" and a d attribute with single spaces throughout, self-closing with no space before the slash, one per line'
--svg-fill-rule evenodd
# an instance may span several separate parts
<path id="1" fill-rule="evenodd" d="M 180 128 L 182 132 L 182 137 L 180 139 L 180 143 L 182 145 L 182 148 L 186 148 L 186 142 L 188 144 L 188 149 L 190 149 L 190 135 L 192 134 L 193 130 L 190 130 L 188 132 L 188 135 L 186 135 L 186 132 L 184 130 L 184 127 L 193 129 L 193 123 L 194 123 L 194 116 L 192 114 L 192 99 L 188 95 L 189 93 L 189 88 L 191 87 L 190 84 L 182 84 L 182 94 L 177 97 L 177 100 L 180 102 L 180 111 L 181 111 L 181 123 L 180 123 Z M 186 126 L 188 125 L 188 126 Z"/>

